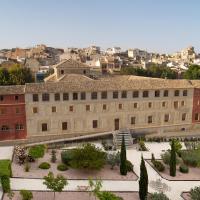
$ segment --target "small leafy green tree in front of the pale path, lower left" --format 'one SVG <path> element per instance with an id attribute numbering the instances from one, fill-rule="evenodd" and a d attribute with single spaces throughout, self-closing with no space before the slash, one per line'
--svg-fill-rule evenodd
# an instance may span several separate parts
<path id="1" fill-rule="evenodd" d="M 64 187 L 68 184 L 67 180 L 62 175 L 54 177 L 52 172 L 44 176 L 44 185 L 47 186 L 54 193 L 54 200 L 56 199 L 56 192 L 62 192 Z"/>

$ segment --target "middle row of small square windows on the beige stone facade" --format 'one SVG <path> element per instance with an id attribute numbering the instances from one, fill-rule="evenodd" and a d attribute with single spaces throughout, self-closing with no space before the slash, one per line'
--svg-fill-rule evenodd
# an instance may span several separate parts
<path id="1" fill-rule="evenodd" d="M 185 101 L 181 101 L 180 102 L 180 106 L 185 106 Z M 162 102 L 162 107 L 166 107 L 166 102 L 163 101 Z M 179 102 L 178 101 L 174 101 L 174 108 L 177 109 L 179 107 Z M 133 103 L 133 108 L 137 109 L 138 108 L 138 103 Z M 152 108 L 152 102 L 148 102 L 148 108 Z M 123 104 L 119 103 L 118 104 L 118 109 L 119 110 L 122 110 L 123 109 Z M 85 105 L 85 110 L 86 111 L 91 111 L 91 106 L 88 104 L 88 105 Z M 102 110 L 107 110 L 107 104 L 103 104 L 102 105 Z M 55 113 L 57 112 L 57 107 L 56 106 L 52 106 L 51 107 L 51 111 L 52 113 Z M 69 106 L 69 111 L 70 112 L 73 112 L 74 111 L 74 106 Z M 38 113 L 38 107 L 33 107 L 32 109 L 32 112 L 33 113 Z"/>

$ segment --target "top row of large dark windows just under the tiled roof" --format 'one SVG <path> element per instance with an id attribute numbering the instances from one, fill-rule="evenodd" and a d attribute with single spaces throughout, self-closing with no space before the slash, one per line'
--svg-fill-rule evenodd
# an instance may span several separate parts
<path id="1" fill-rule="evenodd" d="M 155 97 L 160 97 L 161 96 L 161 92 L 160 90 L 156 90 L 154 91 Z M 127 98 L 127 91 L 122 91 L 121 95 L 119 91 L 114 91 L 113 94 L 113 99 L 118 99 L 120 96 L 121 98 Z M 168 97 L 169 96 L 169 91 L 168 90 L 164 90 L 163 92 L 163 97 Z M 174 96 L 178 97 L 180 96 L 180 90 L 175 90 L 174 91 Z M 182 91 L 182 96 L 187 96 L 187 90 L 183 90 Z M 132 92 L 132 97 L 133 98 L 138 98 L 139 97 L 139 91 L 133 91 Z M 142 92 L 142 97 L 147 98 L 149 97 L 149 91 L 143 91 Z M 33 94 L 32 96 L 33 98 L 33 102 L 37 102 L 39 101 L 39 95 L 38 94 Z M 101 99 L 107 99 L 108 98 L 108 92 L 107 91 L 102 91 L 101 92 Z M 73 100 L 85 100 L 86 99 L 86 93 L 85 92 L 81 92 L 80 94 L 78 92 L 73 92 L 72 93 L 72 99 Z M 98 99 L 98 92 L 91 92 L 91 99 L 92 100 L 96 100 Z M 49 93 L 43 93 L 42 94 L 42 101 L 49 101 L 50 100 L 50 94 Z M 61 100 L 61 95 L 60 93 L 55 93 L 54 94 L 54 100 L 55 101 L 60 101 Z M 63 93 L 62 94 L 62 100 L 63 101 L 67 101 L 69 100 L 69 93 Z"/>

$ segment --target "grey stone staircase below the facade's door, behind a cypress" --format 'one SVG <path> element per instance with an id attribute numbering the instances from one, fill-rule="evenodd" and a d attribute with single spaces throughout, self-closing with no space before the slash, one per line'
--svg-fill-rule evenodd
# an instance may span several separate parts
<path id="1" fill-rule="evenodd" d="M 129 130 L 119 130 L 113 133 L 113 142 L 117 148 L 121 148 L 122 137 L 124 136 L 126 148 L 133 147 L 133 138 Z"/>

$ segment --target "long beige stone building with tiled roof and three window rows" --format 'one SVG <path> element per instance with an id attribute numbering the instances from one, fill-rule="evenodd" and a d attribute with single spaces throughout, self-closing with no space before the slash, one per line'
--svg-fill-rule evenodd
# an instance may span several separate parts
<path id="1" fill-rule="evenodd" d="M 14 91 L 16 86 L 12 87 Z M 1 87 L 0 93 L 6 88 Z M 199 88 L 200 81 L 136 76 L 93 80 L 80 74 L 26 84 L 27 138 L 65 138 L 124 128 L 160 136 L 193 131 L 200 122 Z M 0 121 L 0 126 L 4 123 Z"/>

